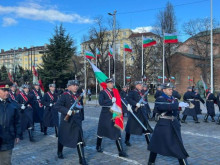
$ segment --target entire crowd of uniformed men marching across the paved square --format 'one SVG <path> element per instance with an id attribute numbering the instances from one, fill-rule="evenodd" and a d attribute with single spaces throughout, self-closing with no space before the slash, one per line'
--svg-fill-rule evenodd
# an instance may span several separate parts
<path id="1" fill-rule="evenodd" d="M 105 83 L 107 88 L 100 91 L 98 100 L 102 109 L 97 126 L 96 150 L 99 153 L 103 152 L 102 140 L 105 137 L 115 140 L 120 157 L 127 157 L 121 131 L 115 127 L 112 120 L 111 106 L 119 101 L 113 90 L 114 80 L 110 78 Z M 79 85 L 79 81 L 69 80 L 67 89 L 57 92 L 56 85 L 49 84 L 48 92 L 42 96 L 38 83 L 33 84 L 32 89 L 29 85 L 23 84 L 18 90 L 15 84 L 0 82 L 1 163 L 11 164 L 14 144 L 24 139 L 25 131 L 28 132 L 29 140 L 35 142 L 34 125 L 40 123 L 40 131 L 44 135 L 47 135 L 48 127 L 54 127 L 55 136 L 58 137 L 59 159 L 64 159 L 64 146 L 77 148 L 79 163 L 88 164 L 84 156 L 85 141 L 82 128 L 84 106 Z M 197 115 L 202 114 L 200 103 L 207 108 L 204 122 L 208 122 L 209 116 L 212 122 L 215 122 L 214 104 L 220 107 L 220 94 L 215 97 L 209 88 L 204 100 L 197 88 L 188 87 L 181 102 L 181 95 L 175 86 L 172 83 L 165 83 L 158 85 L 154 95 L 155 106 L 151 110 L 148 86 L 142 81 L 135 81 L 133 89 L 129 88 L 124 86 L 120 91 L 122 114 L 128 118 L 125 127 L 125 145 L 132 147 L 131 135 L 144 135 L 150 151 L 148 165 L 155 164 L 157 154 L 175 157 L 180 165 L 188 164 L 186 159 L 189 155 L 183 145 L 180 122 L 186 123 L 187 116 L 192 116 L 195 123 L 199 123 Z M 91 98 L 91 92 L 88 94 Z M 149 124 L 152 120 L 157 122 L 154 129 Z M 217 124 L 220 124 L 220 117 Z"/>

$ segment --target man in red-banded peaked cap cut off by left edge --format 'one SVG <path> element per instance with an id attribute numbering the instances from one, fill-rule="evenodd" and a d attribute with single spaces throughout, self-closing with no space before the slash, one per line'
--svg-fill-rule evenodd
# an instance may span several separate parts
<path id="1" fill-rule="evenodd" d="M 0 82 L 0 164 L 10 165 L 14 144 L 21 133 L 19 108 L 9 97 L 10 82 Z"/>

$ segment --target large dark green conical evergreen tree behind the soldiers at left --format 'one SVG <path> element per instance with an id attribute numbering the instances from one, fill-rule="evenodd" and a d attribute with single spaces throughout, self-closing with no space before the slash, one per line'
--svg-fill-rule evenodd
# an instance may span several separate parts
<path id="1" fill-rule="evenodd" d="M 55 81 L 57 87 L 65 88 L 71 76 L 70 64 L 76 52 L 74 42 L 62 24 L 55 28 L 55 34 L 50 39 L 46 53 L 42 56 L 43 64 L 39 75 L 47 88 L 48 84 Z"/>

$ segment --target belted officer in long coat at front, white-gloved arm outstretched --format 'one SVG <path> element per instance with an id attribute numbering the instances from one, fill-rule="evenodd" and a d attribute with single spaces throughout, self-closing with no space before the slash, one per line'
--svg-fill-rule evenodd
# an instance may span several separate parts
<path id="1" fill-rule="evenodd" d="M 173 84 L 164 84 L 163 93 L 156 99 L 155 106 L 159 113 L 159 120 L 154 128 L 148 150 L 150 157 L 148 165 L 154 165 L 157 154 L 177 158 L 180 165 L 187 165 L 186 152 L 181 137 L 180 123 L 177 120 L 178 108 L 188 106 L 178 103 L 172 96 Z"/>

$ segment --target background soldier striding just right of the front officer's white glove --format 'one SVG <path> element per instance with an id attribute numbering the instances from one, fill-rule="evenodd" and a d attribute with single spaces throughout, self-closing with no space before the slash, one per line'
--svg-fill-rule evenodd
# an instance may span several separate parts
<path id="1" fill-rule="evenodd" d="M 195 105 L 194 99 L 195 99 L 195 93 L 192 91 L 192 87 L 190 86 L 187 88 L 187 92 L 184 94 L 183 100 L 185 102 L 191 102 L 191 104 Z M 186 123 L 185 120 L 186 120 L 187 116 L 192 116 L 195 123 L 199 123 L 195 107 L 185 108 L 185 110 L 183 112 L 183 118 L 181 120 L 181 123 Z"/>

